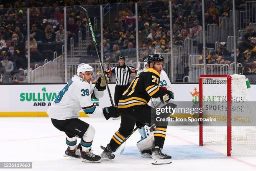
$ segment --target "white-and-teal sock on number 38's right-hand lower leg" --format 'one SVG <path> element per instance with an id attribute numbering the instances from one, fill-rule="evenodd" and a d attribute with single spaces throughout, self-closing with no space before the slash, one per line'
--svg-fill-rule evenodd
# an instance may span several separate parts
<path id="1" fill-rule="evenodd" d="M 94 135 L 95 129 L 89 125 L 83 137 L 81 138 L 81 146 L 83 151 L 88 151 L 91 148 Z"/>

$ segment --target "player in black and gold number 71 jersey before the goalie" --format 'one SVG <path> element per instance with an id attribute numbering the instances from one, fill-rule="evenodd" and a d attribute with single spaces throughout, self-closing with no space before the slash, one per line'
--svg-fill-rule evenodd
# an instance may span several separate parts
<path id="1" fill-rule="evenodd" d="M 147 105 L 151 98 L 160 98 L 167 102 L 173 98 L 173 93 L 164 87 L 159 87 L 160 73 L 163 68 L 164 58 L 158 54 L 148 56 L 149 68 L 139 73 L 126 89 L 118 103 L 121 123 L 118 131 L 112 136 L 110 143 L 101 154 L 102 160 L 115 158 L 115 152 L 125 138 L 131 134 L 134 125 L 144 126 L 151 123 L 151 113 L 154 108 Z M 167 124 L 156 124 L 154 133 L 155 146 L 152 151 L 152 164 L 172 163 L 172 157 L 163 153 Z"/>

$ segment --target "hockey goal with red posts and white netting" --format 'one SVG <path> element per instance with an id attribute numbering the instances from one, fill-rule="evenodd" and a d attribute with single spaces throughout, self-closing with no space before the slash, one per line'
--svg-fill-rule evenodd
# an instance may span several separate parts
<path id="1" fill-rule="evenodd" d="M 201 75 L 200 117 L 217 121 L 200 123 L 200 146 L 227 145 L 228 156 L 256 154 L 255 112 L 249 101 L 244 75 Z"/>

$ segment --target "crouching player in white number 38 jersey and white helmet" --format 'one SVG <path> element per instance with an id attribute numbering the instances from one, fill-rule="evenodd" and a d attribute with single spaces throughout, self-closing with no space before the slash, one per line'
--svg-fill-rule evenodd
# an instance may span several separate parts
<path id="1" fill-rule="evenodd" d="M 83 162 L 100 163 L 101 158 L 91 151 L 95 129 L 88 123 L 78 119 L 79 110 L 92 114 L 96 106 L 91 98 L 101 98 L 106 89 L 104 75 L 97 80 L 95 87 L 92 87 L 92 75 L 94 69 L 81 63 L 77 68 L 77 75 L 74 75 L 65 87 L 59 92 L 47 111 L 53 125 L 67 134 L 66 143 L 67 157 L 82 158 Z M 77 146 L 77 137 L 81 138 Z"/>

